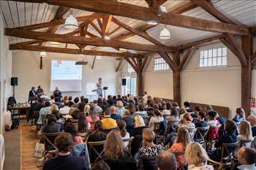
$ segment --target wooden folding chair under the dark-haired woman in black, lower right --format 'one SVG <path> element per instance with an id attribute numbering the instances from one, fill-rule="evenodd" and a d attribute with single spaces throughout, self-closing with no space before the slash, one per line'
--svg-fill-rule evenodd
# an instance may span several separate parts
<path id="1" fill-rule="evenodd" d="M 218 166 L 218 169 L 227 169 L 227 168 L 230 168 L 230 169 L 235 169 L 234 167 L 234 150 L 232 150 L 232 152 L 230 152 L 228 150 L 228 148 L 236 148 L 237 145 L 238 145 L 239 141 L 237 141 L 236 143 L 223 143 L 222 146 L 221 146 L 221 159 L 220 159 L 220 162 L 216 162 L 214 160 L 207 160 L 207 162 L 215 165 L 215 166 Z M 224 157 L 224 152 L 227 152 L 228 155 L 227 157 Z"/>

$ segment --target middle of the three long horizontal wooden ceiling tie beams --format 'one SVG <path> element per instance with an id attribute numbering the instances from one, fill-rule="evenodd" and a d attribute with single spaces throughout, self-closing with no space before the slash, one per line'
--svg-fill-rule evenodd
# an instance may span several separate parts
<path id="1" fill-rule="evenodd" d="M 131 50 L 141 50 L 150 52 L 174 52 L 176 48 L 157 46 L 157 45 L 144 45 L 139 43 L 131 43 L 119 40 L 102 40 L 99 38 L 84 38 L 81 36 L 67 36 L 65 34 L 52 34 L 49 32 L 35 32 L 35 31 L 24 31 L 19 29 L 5 29 L 4 34 L 6 36 L 15 36 L 19 38 L 37 39 L 44 41 L 56 41 L 60 43 L 71 43 L 80 45 L 92 45 L 92 46 L 111 46 L 115 48 L 125 48 Z"/>

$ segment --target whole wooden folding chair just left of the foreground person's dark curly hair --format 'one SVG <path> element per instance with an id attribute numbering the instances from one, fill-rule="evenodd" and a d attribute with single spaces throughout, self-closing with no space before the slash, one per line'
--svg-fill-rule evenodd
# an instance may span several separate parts
<path id="1" fill-rule="evenodd" d="M 44 162 L 47 158 L 51 158 L 54 153 L 57 151 L 57 147 L 54 145 L 54 140 L 62 132 L 55 133 L 42 133 L 42 138 L 44 140 Z M 51 155 L 51 156 L 50 156 Z"/>

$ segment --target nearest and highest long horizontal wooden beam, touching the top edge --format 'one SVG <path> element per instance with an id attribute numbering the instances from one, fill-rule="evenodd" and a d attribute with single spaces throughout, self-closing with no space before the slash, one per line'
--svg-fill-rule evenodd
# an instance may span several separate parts
<path id="1" fill-rule="evenodd" d="M 228 32 L 238 35 L 248 35 L 248 27 L 244 25 L 225 24 L 212 20 L 205 20 L 186 15 L 168 13 L 168 15 L 157 16 L 150 9 L 136 6 L 133 4 L 120 3 L 119 1 L 54 1 L 47 0 L 47 3 L 67 6 L 77 10 L 93 11 L 106 13 L 109 15 L 117 15 L 121 17 L 133 18 L 136 20 L 155 20 L 159 24 L 173 25 L 189 29 L 210 32 Z M 99 8 L 100 6 L 100 8 Z"/>

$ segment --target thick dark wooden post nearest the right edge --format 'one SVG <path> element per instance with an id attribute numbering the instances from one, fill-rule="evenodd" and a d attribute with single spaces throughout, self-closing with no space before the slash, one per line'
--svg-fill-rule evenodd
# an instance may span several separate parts
<path id="1" fill-rule="evenodd" d="M 251 97 L 252 97 L 252 64 L 251 56 L 253 53 L 253 36 L 243 36 L 242 50 L 246 57 L 246 66 L 242 66 L 241 69 L 241 102 L 246 116 L 248 111 L 251 110 Z"/>

